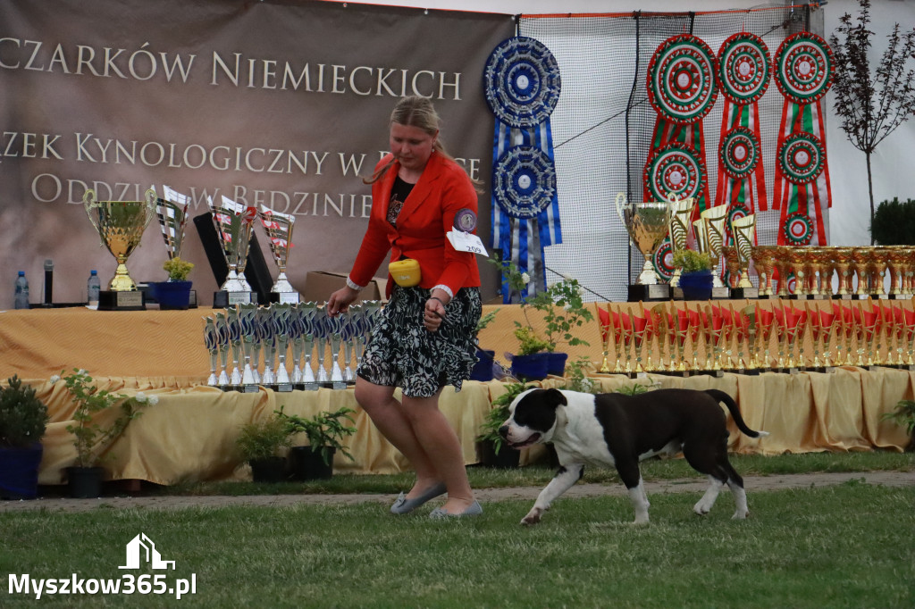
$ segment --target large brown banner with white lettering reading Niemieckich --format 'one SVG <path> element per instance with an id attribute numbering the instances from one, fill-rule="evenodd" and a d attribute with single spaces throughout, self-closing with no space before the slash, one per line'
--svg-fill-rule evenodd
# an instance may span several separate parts
<path id="1" fill-rule="evenodd" d="M 296 217 L 296 288 L 310 271 L 349 271 L 371 208 L 361 177 L 387 149 L 404 95 L 435 102 L 448 151 L 486 185 L 488 218 L 482 72 L 513 33 L 511 16 L 329 2 L 4 0 L 0 308 L 12 305 L 17 270 L 39 300 L 45 259 L 56 302 L 84 301 L 91 269 L 113 276 L 82 206 L 87 188 L 141 200 L 167 185 L 190 196 L 192 217 L 208 196 L 265 205 Z M 209 304 L 217 285 L 192 223 L 183 257 Z M 164 280 L 166 258 L 151 225 L 131 274 Z"/>

